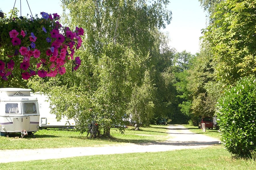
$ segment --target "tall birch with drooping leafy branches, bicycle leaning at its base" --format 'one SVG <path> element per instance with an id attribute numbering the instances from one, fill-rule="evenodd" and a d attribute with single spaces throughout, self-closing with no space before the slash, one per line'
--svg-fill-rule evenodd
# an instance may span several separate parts
<path id="1" fill-rule="evenodd" d="M 55 80 L 43 79 L 46 84 L 43 89 L 58 106 L 53 112 L 60 117 L 75 118 L 81 132 L 86 131 L 93 115 L 101 125 L 99 130 L 109 136 L 112 125 L 125 122 L 131 94 L 138 92 L 147 94 L 140 103 L 145 108 L 140 118 L 148 124 L 154 109 L 154 84 L 147 73 L 154 73 L 156 55 L 152 55 L 152 49 L 159 49 L 155 47 L 155 35 L 171 20 L 171 12 L 165 8 L 168 1 L 150 4 L 144 0 L 63 0 L 62 3 L 67 11 L 62 21 L 71 29 L 83 27 L 86 37 L 76 54 L 81 58 L 76 73 L 57 76 Z M 40 87 L 38 82 L 30 84 Z M 136 87 L 138 90 L 133 91 Z"/>

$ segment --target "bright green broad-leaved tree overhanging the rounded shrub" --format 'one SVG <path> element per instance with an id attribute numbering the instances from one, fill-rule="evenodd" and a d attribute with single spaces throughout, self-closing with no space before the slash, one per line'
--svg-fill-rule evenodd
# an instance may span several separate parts
<path id="1" fill-rule="evenodd" d="M 234 84 L 240 77 L 255 74 L 255 1 L 221 1 L 204 30 L 210 44 L 218 78 Z"/>

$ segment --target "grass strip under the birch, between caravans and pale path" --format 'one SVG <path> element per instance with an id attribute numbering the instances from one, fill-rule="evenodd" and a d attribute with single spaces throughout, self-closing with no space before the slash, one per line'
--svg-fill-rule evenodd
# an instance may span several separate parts
<path id="1" fill-rule="evenodd" d="M 112 138 L 88 139 L 87 133 L 79 131 L 63 131 L 59 129 L 41 129 L 35 133 L 36 138 L 25 136 L 19 138 L 20 133 L 10 134 L 9 138 L 0 137 L 0 149 L 35 149 L 35 148 L 64 148 L 64 147 L 88 147 L 101 145 L 115 145 L 120 143 L 143 143 L 163 141 L 167 139 L 167 126 L 152 125 L 149 128 L 140 128 L 135 131 L 129 127 L 121 134 L 118 129 L 111 128 Z"/>

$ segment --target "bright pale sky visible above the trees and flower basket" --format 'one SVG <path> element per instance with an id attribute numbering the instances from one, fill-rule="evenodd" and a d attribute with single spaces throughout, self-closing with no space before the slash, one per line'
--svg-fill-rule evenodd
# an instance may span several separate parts
<path id="1" fill-rule="evenodd" d="M 27 4 L 28 1 L 28 4 Z M 60 0 L 21 0 L 21 14 L 35 16 L 40 12 L 62 13 Z M 200 7 L 198 0 L 169 0 L 168 9 L 172 11 L 171 24 L 163 31 L 169 32 L 170 46 L 178 52 L 186 50 L 195 54 L 199 52 L 199 37 L 201 29 L 206 27 L 206 14 Z M 4 13 L 13 9 L 15 0 L 0 0 L 0 8 Z M 28 8 L 30 7 L 30 10 Z M 20 0 L 16 0 L 15 7 L 20 10 Z M 20 12 L 18 13 L 20 15 Z"/>

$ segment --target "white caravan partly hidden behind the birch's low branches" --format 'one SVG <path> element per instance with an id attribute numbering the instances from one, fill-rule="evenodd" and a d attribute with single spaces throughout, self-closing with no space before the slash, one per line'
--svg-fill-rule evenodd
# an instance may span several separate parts
<path id="1" fill-rule="evenodd" d="M 37 97 L 38 100 L 38 108 L 40 112 L 39 126 L 41 128 L 74 128 L 74 119 L 67 119 L 67 117 L 64 116 L 60 121 L 57 121 L 56 115 L 50 113 L 51 108 L 48 96 L 40 93 L 30 93 L 30 95 Z"/>

